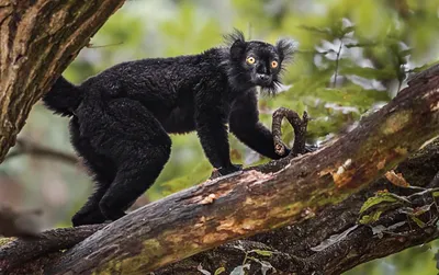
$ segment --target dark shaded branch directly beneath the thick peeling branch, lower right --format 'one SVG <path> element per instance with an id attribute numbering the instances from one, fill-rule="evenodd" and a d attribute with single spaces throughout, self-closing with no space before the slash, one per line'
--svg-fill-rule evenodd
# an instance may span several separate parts
<path id="1" fill-rule="evenodd" d="M 397 172 L 403 173 L 404 177 L 413 185 L 428 188 L 439 187 L 439 177 L 431 181 L 438 172 L 437 163 L 439 163 L 439 139 L 436 139 L 432 144 L 401 163 Z M 230 272 L 243 263 L 245 253 L 241 248 L 245 248 L 246 251 L 262 249 L 278 252 L 270 257 L 259 257 L 270 262 L 275 270 L 286 274 L 305 275 L 313 274 L 313 272 L 340 274 L 358 264 L 426 243 L 438 237 L 436 228 L 420 228 L 414 222 L 407 222 L 397 228 L 403 234 L 397 236 L 390 232 L 384 233 L 382 238 L 378 234 L 373 236 L 370 226 L 360 225 L 340 242 L 323 251 L 316 252 L 312 250 L 312 248 L 328 240 L 330 236 L 339 234 L 358 225 L 359 210 L 363 203 L 373 196 L 375 192 L 382 190 L 389 190 L 401 195 L 419 192 L 394 186 L 382 177 L 363 191 L 352 194 L 342 203 L 316 213 L 316 216 L 308 220 L 295 226 L 257 234 L 248 241 L 237 241 L 221 245 L 214 250 L 168 265 L 156 271 L 155 274 L 191 274 L 199 264 L 212 273 L 219 266 Z M 415 203 L 427 205 L 431 199 L 430 194 L 425 193 L 423 196 L 416 197 Z M 385 213 L 385 216 L 383 215 L 373 226 L 385 225 L 389 227 L 392 224 L 409 220 L 406 215 L 395 215 L 395 213 L 397 214 L 397 209 Z M 427 213 L 426 216 L 423 217 L 426 221 L 438 218 L 437 209 L 431 208 L 431 211 Z M 254 263 L 251 268 L 250 274 L 258 274 L 257 271 L 260 270 L 260 265 Z"/>

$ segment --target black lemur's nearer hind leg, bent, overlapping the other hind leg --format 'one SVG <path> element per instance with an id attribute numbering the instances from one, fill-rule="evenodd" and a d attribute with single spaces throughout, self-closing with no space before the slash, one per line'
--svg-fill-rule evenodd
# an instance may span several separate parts
<path id="1" fill-rule="evenodd" d="M 99 202 L 111 220 L 125 210 L 156 181 L 171 150 L 171 139 L 154 115 L 139 102 L 117 99 L 104 108 L 100 125 L 91 138 L 98 153 L 114 161 L 113 182 Z"/>

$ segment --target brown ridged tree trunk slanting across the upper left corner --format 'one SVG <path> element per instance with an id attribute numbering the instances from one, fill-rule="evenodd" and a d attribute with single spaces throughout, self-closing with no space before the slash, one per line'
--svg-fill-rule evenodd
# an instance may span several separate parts
<path id="1" fill-rule="evenodd" d="M 0 3 L 0 162 L 29 112 L 123 0 Z"/>

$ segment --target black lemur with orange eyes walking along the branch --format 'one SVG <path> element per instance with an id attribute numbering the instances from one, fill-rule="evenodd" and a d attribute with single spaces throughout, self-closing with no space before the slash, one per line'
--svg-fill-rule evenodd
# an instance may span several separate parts
<path id="1" fill-rule="evenodd" d="M 246 42 L 239 31 L 227 37 L 228 46 L 199 55 L 119 64 L 80 85 L 64 77 L 55 82 L 43 101 L 71 117 L 71 144 L 97 183 L 74 226 L 124 216 L 168 161 L 168 134 L 196 130 L 222 175 L 239 170 L 230 162 L 226 124 L 258 153 L 289 154 L 274 152 L 272 134 L 259 122 L 256 87 L 275 92 L 293 43 Z"/>

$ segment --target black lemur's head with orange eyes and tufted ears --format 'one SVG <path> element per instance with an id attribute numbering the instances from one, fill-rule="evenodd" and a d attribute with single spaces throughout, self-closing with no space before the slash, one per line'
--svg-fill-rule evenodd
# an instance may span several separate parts
<path id="1" fill-rule="evenodd" d="M 275 45 L 266 42 L 246 42 L 237 30 L 226 39 L 230 44 L 228 77 L 233 87 L 246 89 L 259 85 L 262 91 L 275 93 L 281 83 L 281 72 L 292 58 L 294 43 L 279 39 Z"/>

